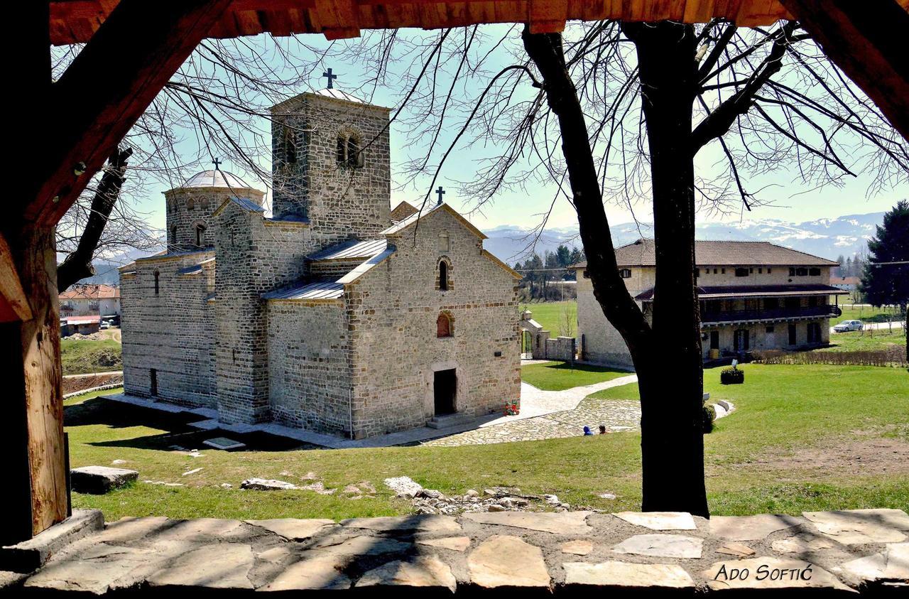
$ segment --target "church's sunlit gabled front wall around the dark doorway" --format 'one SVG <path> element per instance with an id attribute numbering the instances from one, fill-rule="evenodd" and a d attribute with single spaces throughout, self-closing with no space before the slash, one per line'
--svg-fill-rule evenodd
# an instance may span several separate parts
<path id="1" fill-rule="evenodd" d="M 481 255 L 481 240 L 447 211 L 425 216 L 416 231 L 416 238 L 414 227 L 391 238 L 397 253 L 346 295 L 356 438 L 424 425 L 435 413 L 438 370 L 456 371 L 458 413 L 498 412 L 520 395 L 516 281 Z M 449 235 L 444 253 L 441 233 Z M 435 288 L 442 255 L 461 282 L 450 291 Z M 451 337 L 436 337 L 442 311 L 452 317 Z"/>

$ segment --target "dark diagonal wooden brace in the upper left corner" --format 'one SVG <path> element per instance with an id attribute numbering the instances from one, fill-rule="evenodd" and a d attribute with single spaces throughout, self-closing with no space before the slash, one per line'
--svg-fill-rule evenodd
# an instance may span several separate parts
<path id="1" fill-rule="evenodd" d="M 26 221 L 55 225 L 231 0 L 121 0 L 51 90 Z"/>

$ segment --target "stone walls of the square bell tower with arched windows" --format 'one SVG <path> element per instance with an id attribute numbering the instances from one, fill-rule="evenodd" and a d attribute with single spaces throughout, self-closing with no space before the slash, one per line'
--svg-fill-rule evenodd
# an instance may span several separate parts
<path id="1" fill-rule="evenodd" d="M 276 105 L 272 115 L 275 217 L 306 216 L 322 247 L 375 236 L 390 225 L 387 108 L 303 94 Z M 338 163 L 339 135 L 358 140 L 362 165 Z M 295 141 L 293 163 L 288 137 Z"/>

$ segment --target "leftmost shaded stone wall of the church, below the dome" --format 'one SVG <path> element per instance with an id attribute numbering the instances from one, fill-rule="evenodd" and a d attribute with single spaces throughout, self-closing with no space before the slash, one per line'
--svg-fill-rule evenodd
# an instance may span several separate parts
<path id="1" fill-rule="evenodd" d="M 156 397 L 215 407 L 214 310 L 206 301 L 215 286 L 214 263 L 205 263 L 195 275 L 178 273 L 214 255 L 203 251 L 146 258 L 136 261 L 135 275 L 121 276 L 126 393 L 150 396 L 155 369 Z"/>

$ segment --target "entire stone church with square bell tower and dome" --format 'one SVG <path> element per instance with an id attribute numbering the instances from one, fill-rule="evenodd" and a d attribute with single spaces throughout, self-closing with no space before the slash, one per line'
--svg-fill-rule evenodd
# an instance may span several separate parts
<path id="1" fill-rule="evenodd" d="M 273 198 L 216 168 L 165 192 L 167 249 L 121 269 L 125 393 L 365 438 L 520 394 L 516 285 L 440 202 L 390 210 L 389 109 L 272 108 Z"/>

